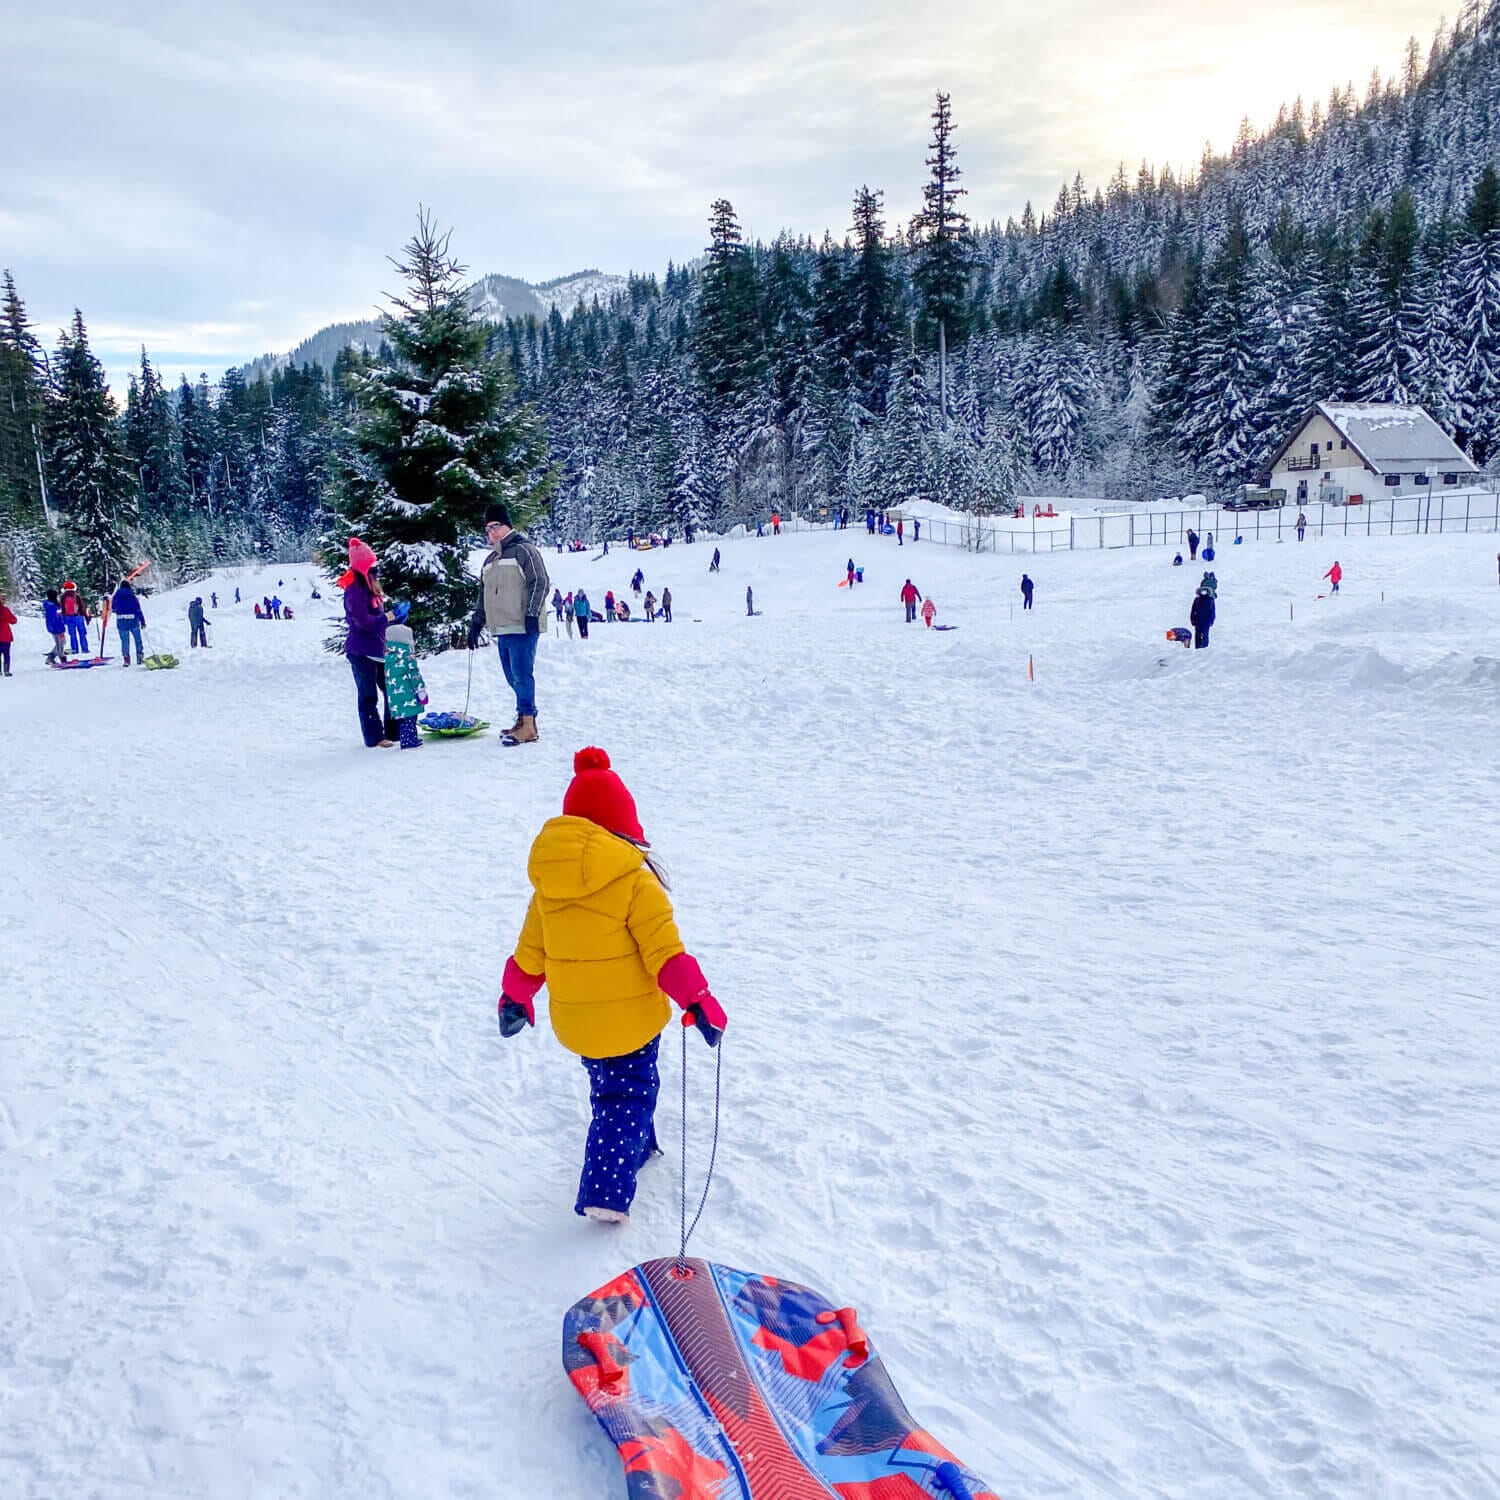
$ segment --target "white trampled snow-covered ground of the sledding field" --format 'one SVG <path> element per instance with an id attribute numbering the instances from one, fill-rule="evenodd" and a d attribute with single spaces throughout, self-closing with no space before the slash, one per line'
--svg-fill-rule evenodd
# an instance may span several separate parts
<path id="1" fill-rule="evenodd" d="M 675 624 L 544 644 L 519 750 L 366 752 L 306 568 L 212 651 L 186 600 L 234 580 L 153 597 L 176 672 L 46 672 L 22 622 L 0 1494 L 624 1492 L 560 1324 L 675 1250 L 678 1034 L 608 1232 L 584 1070 L 494 1011 L 590 742 L 730 1016 L 696 1252 L 855 1304 L 1008 1500 L 1500 1494 L 1496 538 L 1222 548 L 1208 652 L 1160 548 L 706 550 L 639 556 Z M 636 561 L 549 558 L 596 602 Z"/>

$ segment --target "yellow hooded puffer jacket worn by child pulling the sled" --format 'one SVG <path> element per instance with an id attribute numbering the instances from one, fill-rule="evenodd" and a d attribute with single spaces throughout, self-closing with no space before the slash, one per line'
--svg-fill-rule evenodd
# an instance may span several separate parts
<path id="1" fill-rule="evenodd" d="M 684 948 L 645 850 L 586 818 L 554 818 L 526 874 L 516 963 L 546 975 L 558 1041 L 582 1058 L 622 1058 L 660 1035 L 672 1006 L 656 976 Z"/>

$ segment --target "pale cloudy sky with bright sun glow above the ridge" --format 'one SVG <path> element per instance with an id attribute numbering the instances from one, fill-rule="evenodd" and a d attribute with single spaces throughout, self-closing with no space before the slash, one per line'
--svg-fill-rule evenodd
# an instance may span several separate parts
<path id="1" fill-rule="evenodd" d="M 216 375 L 368 316 L 418 202 L 476 272 L 544 280 L 916 207 L 952 94 L 968 207 L 1192 165 L 1299 93 L 1364 93 L 1425 0 L 0 0 L 0 264 L 114 378 Z"/>

